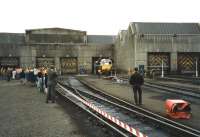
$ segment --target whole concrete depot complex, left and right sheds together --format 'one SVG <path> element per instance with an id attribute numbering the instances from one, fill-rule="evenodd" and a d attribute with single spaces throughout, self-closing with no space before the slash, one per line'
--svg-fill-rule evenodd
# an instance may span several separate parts
<path id="1" fill-rule="evenodd" d="M 62 74 L 92 73 L 100 57 L 113 59 L 118 72 L 139 67 L 160 73 L 163 64 L 168 73 L 193 75 L 200 70 L 200 25 L 132 22 L 117 36 L 63 28 L 0 33 L 0 67 L 54 65 Z"/>

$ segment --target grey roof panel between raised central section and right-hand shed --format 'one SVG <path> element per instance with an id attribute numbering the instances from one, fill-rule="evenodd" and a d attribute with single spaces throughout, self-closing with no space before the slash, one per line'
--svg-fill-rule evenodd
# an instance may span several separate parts
<path id="1" fill-rule="evenodd" d="M 113 44 L 115 36 L 109 35 L 88 35 L 87 42 L 88 43 L 97 43 L 97 44 Z"/>

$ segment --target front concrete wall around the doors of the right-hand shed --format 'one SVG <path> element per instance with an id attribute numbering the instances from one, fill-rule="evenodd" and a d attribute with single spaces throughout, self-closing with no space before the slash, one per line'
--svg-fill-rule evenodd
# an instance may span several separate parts
<path id="1" fill-rule="evenodd" d="M 148 52 L 169 52 L 171 71 L 177 70 L 178 52 L 200 52 L 199 36 L 144 36 L 137 37 L 136 66 L 147 66 Z"/>

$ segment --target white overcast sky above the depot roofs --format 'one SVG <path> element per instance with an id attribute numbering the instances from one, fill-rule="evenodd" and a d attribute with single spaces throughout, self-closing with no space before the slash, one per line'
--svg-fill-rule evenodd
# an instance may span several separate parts
<path id="1" fill-rule="evenodd" d="M 117 35 L 130 22 L 198 22 L 199 0 L 0 0 L 0 32 L 60 27 Z"/>

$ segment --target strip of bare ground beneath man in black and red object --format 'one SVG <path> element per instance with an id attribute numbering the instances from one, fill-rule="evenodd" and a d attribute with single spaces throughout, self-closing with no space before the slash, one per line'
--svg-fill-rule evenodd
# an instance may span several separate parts
<path id="1" fill-rule="evenodd" d="M 97 76 L 85 76 L 79 77 L 81 80 L 84 80 L 88 84 L 91 84 L 97 89 L 101 89 L 106 93 L 109 93 L 113 96 L 121 98 L 129 103 L 134 104 L 134 97 L 132 88 L 130 85 L 125 84 L 116 84 L 111 80 L 105 80 L 102 78 L 98 78 Z M 155 92 L 150 89 L 143 88 L 143 108 L 149 109 L 150 111 L 156 112 L 163 116 L 165 115 L 164 103 L 166 99 L 174 98 L 170 94 L 164 94 L 160 92 Z M 192 108 L 192 118 L 189 120 L 176 120 L 182 124 L 195 127 L 200 130 L 200 109 L 199 109 L 200 101 L 198 103 L 191 103 Z"/>

